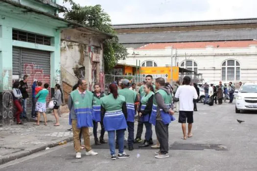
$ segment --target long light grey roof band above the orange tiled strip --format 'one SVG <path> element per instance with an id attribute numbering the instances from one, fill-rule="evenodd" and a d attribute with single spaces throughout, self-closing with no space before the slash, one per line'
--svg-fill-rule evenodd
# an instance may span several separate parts
<path id="1" fill-rule="evenodd" d="M 210 42 L 257 39 L 257 28 L 117 34 L 119 43 Z"/>

